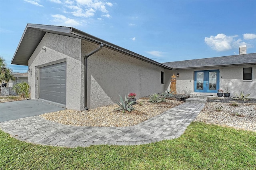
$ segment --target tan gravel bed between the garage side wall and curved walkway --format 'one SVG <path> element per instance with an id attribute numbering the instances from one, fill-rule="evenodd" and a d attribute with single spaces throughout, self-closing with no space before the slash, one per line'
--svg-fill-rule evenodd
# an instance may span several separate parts
<path id="1" fill-rule="evenodd" d="M 66 109 L 40 116 L 65 125 L 128 127 L 137 125 L 182 103 L 184 102 L 176 100 L 166 100 L 164 103 L 150 103 L 147 99 L 138 99 L 136 105 L 134 105 L 135 111 L 130 113 L 128 111 L 125 113 L 114 111 L 114 109 L 118 108 L 118 105 L 108 105 L 88 111 Z"/>

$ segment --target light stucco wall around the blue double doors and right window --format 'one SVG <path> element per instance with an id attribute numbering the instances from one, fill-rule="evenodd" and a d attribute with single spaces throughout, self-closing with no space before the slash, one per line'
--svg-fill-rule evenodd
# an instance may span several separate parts
<path id="1" fill-rule="evenodd" d="M 247 67 L 252 67 L 252 81 L 243 81 L 243 68 Z M 244 94 L 250 93 L 249 97 L 256 98 L 256 65 L 170 70 L 167 71 L 167 74 L 171 77 L 173 73 L 175 75 L 179 73 L 180 76 L 176 82 L 177 93 L 198 94 L 194 92 L 194 71 L 214 69 L 220 70 L 220 89 L 224 89 L 228 85 L 231 93 L 230 96 L 235 96 L 234 93 L 244 91 Z M 170 83 L 168 88 L 170 88 Z M 212 95 L 216 94 L 214 93 Z"/>

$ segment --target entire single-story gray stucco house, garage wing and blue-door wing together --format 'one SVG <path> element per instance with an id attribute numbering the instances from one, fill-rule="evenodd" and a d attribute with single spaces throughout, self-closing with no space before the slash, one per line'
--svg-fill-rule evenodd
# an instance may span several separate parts
<path id="1" fill-rule="evenodd" d="M 245 61 L 234 59 L 235 62 L 232 57 L 244 57 Z M 31 99 L 51 101 L 67 109 L 110 105 L 119 101 L 118 94 L 124 97 L 136 93 L 139 98 L 162 93 L 170 88 L 173 73 L 180 75 L 177 93 L 216 95 L 219 88 L 228 84 L 231 93 L 242 90 L 256 97 L 256 53 L 215 60 L 158 63 L 72 27 L 28 24 L 12 64 L 28 65 Z M 211 61 L 214 63 L 209 64 Z M 246 68 L 252 68 L 250 80 L 243 80 L 249 70 Z M 206 78 L 209 73 L 212 79 Z M 202 74 L 206 75 L 202 78 Z M 201 85 L 216 85 L 211 91 L 197 91 L 194 87 L 199 80 Z"/>

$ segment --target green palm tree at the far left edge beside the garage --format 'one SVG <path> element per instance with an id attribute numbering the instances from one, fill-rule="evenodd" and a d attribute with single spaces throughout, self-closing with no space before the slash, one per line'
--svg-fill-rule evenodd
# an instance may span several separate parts
<path id="1" fill-rule="evenodd" d="M 10 80 L 15 80 L 12 75 L 12 69 L 8 68 L 4 58 L 0 57 L 0 83 L 7 83 Z"/>

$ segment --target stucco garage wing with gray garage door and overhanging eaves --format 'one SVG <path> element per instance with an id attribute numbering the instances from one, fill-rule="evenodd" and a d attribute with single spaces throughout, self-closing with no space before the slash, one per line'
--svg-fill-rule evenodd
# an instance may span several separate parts
<path id="1" fill-rule="evenodd" d="M 172 69 L 75 28 L 38 24 L 26 26 L 11 63 L 31 70 L 31 99 L 76 110 L 164 92 Z"/>

